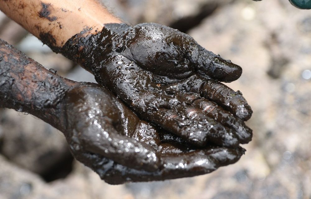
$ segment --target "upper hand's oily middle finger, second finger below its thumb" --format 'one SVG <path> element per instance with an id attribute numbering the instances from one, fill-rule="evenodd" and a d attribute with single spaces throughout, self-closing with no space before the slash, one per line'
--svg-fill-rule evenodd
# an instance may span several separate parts
<path id="1" fill-rule="evenodd" d="M 252 129 L 246 126 L 243 120 L 234 117 L 229 111 L 224 110 L 216 103 L 201 98 L 194 101 L 192 106 L 199 108 L 220 124 L 233 129 L 241 144 L 246 144 L 252 140 Z"/>

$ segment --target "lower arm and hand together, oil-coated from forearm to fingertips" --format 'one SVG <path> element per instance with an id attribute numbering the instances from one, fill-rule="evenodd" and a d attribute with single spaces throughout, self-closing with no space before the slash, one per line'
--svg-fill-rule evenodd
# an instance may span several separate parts
<path id="1" fill-rule="evenodd" d="M 62 131 L 75 158 L 110 184 L 206 174 L 245 152 L 239 146 L 197 149 L 140 120 L 104 87 L 62 78 L 1 39 L 0 86 L 0 106 Z"/>

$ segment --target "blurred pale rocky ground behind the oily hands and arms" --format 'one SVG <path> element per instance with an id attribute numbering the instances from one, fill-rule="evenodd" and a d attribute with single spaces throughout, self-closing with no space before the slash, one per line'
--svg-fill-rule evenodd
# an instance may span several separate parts
<path id="1" fill-rule="evenodd" d="M 63 134 L 31 115 L 0 109 L 0 199 L 310 199 L 311 11 L 288 0 L 104 0 L 137 24 L 156 22 L 242 66 L 228 84 L 254 114 L 241 160 L 194 178 L 112 186 L 73 160 Z M 76 81 L 91 74 L 53 53 L 0 12 L 0 38 Z"/>

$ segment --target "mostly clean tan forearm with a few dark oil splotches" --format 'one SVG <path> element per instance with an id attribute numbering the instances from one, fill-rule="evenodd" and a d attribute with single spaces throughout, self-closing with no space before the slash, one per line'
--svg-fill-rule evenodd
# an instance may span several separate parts
<path id="1" fill-rule="evenodd" d="M 95 0 L 0 0 L 0 10 L 52 48 L 84 29 L 121 22 Z"/>

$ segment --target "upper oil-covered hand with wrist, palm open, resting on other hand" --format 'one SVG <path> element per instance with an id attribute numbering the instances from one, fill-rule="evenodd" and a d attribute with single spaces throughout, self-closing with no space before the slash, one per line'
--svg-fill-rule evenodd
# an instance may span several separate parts
<path id="1" fill-rule="evenodd" d="M 242 93 L 219 82 L 238 79 L 242 69 L 176 29 L 105 24 L 96 34 L 75 35 L 60 52 L 91 71 L 140 118 L 193 145 L 236 147 L 252 138 L 244 124 L 250 106 Z"/>

